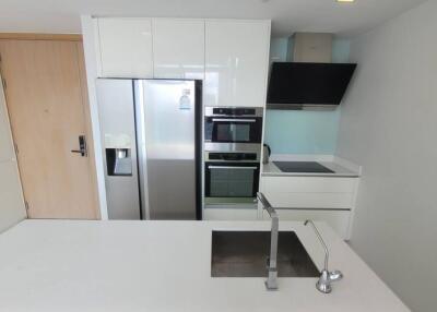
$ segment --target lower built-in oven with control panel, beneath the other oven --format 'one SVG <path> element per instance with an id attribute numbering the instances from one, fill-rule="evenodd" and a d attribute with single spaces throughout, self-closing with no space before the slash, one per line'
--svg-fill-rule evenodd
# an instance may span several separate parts
<path id="1" fill-rule="evenodd" d="M 258 192 L 259 152 L 206 152 L 205 204 L 253 204 Z"/>

